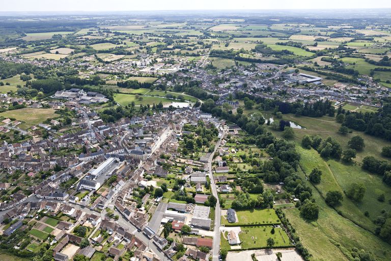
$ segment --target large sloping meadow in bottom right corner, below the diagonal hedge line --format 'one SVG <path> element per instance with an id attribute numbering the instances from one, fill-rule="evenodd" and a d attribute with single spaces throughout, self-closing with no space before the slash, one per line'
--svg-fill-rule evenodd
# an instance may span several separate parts
<path id="1" fill-rule="evenodd" d="M 299 174 L 302 175 L 300 171 Z M 310 182 L 305 181 L 305 184 L 310 185 Z M 330 255 L 332 260 L 349 260 L 352 259 L 349 252 L 353 247 L 371 251 L 378 260 L 385 261 L 391 258 L 390 251 L 384 251 L 389 249 L 387 243 L 340 216 L 326 205 L 315 189 L 313 189 L 313 196 L 320 207 L 319 219 L 316 222 L 303 220 L 296 208 L 284 212 L 296 228 L 301 243 L 313 254 L 314 260 L 329 260 Z"/>

